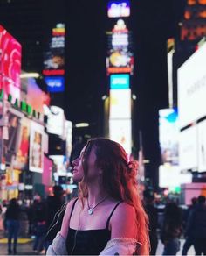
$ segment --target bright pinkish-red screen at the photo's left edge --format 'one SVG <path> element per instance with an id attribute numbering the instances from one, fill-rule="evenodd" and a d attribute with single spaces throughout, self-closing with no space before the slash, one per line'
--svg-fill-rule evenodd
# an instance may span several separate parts
<path id="1" fill-rule="evenodd" d="M 0 89 L 20 96 L 21 45 L 0 25 Z"/>

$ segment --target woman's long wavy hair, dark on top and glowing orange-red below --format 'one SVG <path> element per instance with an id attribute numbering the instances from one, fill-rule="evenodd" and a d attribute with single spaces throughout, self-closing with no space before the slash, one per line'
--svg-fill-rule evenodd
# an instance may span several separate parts
<path id="1" fill-rule="evenodd" d="M 88 196 L 86 175 L 87 159 L 91 150 L 96 154 L 96 166 L 102 169 L 102 185 L 106 193 L 118 201 L 132 205 L 136 212 L 136 239 L 142 245 L 138 249 L 141 255 L 149 254 L 148 216 L 142 207 L 137 188 L 137 171 L 129 166 L 127 153 L 119 143 L 110 139 L 90 139 L 85 148 L 82 165 L 85 177 L 79 183 L 79 197 Z"/>

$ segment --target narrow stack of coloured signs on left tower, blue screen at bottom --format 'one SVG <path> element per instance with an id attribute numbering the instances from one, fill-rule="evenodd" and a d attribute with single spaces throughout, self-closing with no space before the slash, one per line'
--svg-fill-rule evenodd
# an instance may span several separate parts
<path id="1" fill-rule="evenodd" d="M 65 90 L 65 24 L 52 28 L 49 50 L 44 56 L 43 75 L 49 92 Z"/>

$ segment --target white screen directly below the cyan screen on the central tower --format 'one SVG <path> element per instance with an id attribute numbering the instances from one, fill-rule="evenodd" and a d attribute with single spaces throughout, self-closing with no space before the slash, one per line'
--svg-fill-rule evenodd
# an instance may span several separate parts
<path id="1" fill-rule="evenodd" d="M 110 119 L 131 118 L 131 89 L 110 89 Z"/>

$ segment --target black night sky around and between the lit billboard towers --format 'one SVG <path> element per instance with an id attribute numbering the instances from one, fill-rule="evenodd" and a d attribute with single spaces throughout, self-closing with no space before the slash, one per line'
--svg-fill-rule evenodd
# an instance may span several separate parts
<path id="1" fill-rule="evenodd" d="M 66 24 L 65 93 L 52 96 L 52 103 L 65 108 L 74 123 L 92 124 L 93 136 L 103 134 L 101 96 L 108 94 L 106 77 L 106 30 L 113 20 L 106 17 L 106 0 L 10 0 L 0 1 L 0 24 L 23 46 L 23 69 L 42 70 L 43 51 L 52 26 Z M 154 183 L 160 163 L 158 110 L 168 107 L 167 48 L 169 37 L 178 38 L 182 0 L 132 0 L 127 27 L 134 39 L 134 150 L 142 132 L 147 172 Z M 45 89 L 43 81 L 40 86 Z"/>

